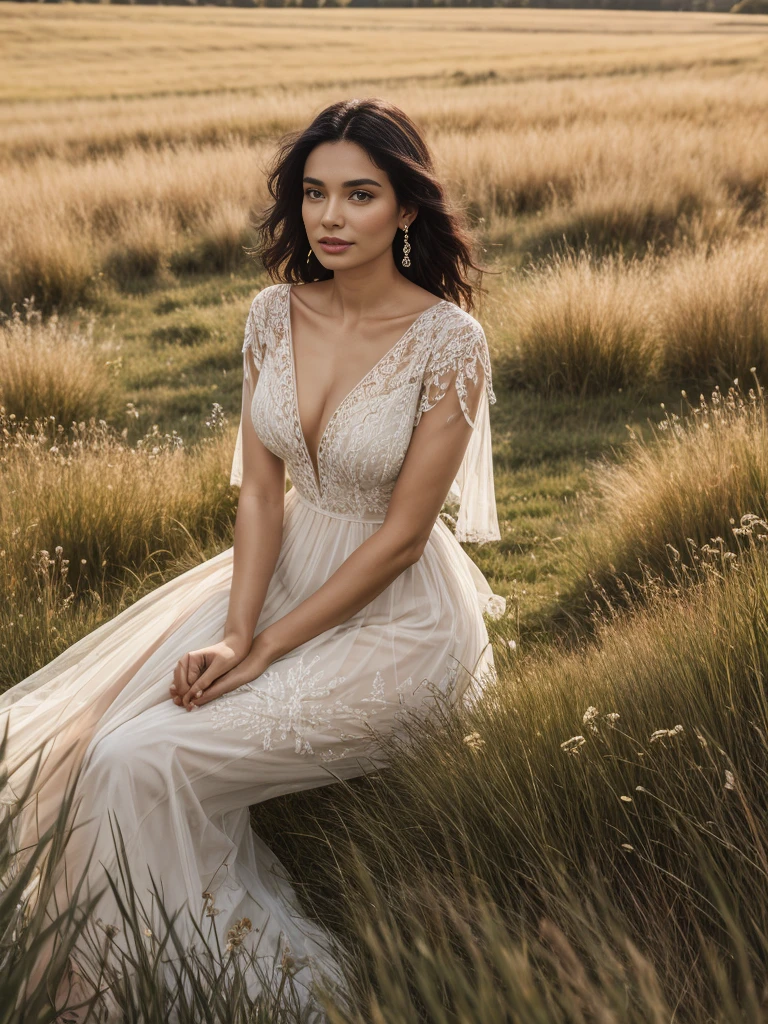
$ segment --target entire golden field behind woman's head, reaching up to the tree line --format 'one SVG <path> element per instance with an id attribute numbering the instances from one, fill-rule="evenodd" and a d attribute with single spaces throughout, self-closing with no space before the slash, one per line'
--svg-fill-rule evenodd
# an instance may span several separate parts
<path id="1" fill-rule="evenodd" d="M 492 255 L 765 220 L 768 17 L 4 4 L 0 28 L 6 309 L 244 266 L 276 136 L 355 94 L 416 119 Z"/>

